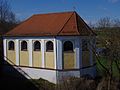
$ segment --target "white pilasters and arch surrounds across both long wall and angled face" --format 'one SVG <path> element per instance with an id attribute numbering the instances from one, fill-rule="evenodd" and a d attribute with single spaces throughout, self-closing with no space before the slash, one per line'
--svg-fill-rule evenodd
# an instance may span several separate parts
<path id="1" fill-rule="evenodd" d="M 70 40 L 74 43 L 74 51 L 75 51 L 75 59 L 76 59 L 76 66 L 75 68 L 80 68 L 81 66 L 81 57 L 80 57 L 80 37 L 79 36 L 58 36 L 58 37 L 4 37 L 4 55 L 6 56 L 6 40 L 15 40 L 16 44 L 16 65 L 19 65 L 19 50 L 20 50 L 20 41 L 26 40 L 28 41 L 28 51 L 29 51 L 29 66 L 32 67 L 32 41 L 33 40 L 40 40 L 41 41 L 41 51 L 42 51 L 42 67 L 44 68 L 44 52 L 45 52 L 45 45 L 46 41 L 53 41 L 54 43 L 54 60 L 55 66 L 54 69 L 62 69 L 62 46 L 63 42 Z"/>

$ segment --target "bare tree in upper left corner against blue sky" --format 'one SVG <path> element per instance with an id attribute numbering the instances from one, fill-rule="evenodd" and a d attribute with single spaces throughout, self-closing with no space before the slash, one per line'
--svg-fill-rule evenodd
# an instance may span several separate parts
<path id="1" fill-rule="evenodd" d="M 7 0 L 0 0 L 0 29 L 5 33 L 15 27 L 17 19 Z"/>

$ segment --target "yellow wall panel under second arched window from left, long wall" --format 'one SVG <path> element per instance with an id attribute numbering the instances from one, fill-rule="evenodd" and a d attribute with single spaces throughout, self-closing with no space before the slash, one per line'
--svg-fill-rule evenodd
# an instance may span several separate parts
<path id="1" fill-rule="evenodd" d="M 20 65 L 29 66 L 29 53 L 28 51 L 20 51 Z"/>

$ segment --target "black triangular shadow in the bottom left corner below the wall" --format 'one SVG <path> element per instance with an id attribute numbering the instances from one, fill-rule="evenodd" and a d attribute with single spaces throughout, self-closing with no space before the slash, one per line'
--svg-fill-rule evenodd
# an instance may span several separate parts
<path id="1" fill-rule="evenodd" d="M 43 90 L 8 62 L 4 62 L 5 64 L 0 65 L 0 90 Z"/>

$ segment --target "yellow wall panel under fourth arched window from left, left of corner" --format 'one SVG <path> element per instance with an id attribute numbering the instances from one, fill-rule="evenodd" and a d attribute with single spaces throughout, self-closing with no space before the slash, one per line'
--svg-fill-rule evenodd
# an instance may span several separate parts
<path id="1" fill-rule="evenodd" d="M 54 52 L 45 52 L 45 67 L 54 69 Z"/>

